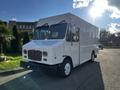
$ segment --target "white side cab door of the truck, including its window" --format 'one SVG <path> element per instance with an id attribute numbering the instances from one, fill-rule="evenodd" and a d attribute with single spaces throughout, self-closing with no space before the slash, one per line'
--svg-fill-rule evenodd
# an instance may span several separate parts
<path id="1" fill-rule="evenodd" d="M 71 26 L 67 31 L 67 42 L 69 43 L 69 51 L 72 57 L 74 66 L 80 64 L 80 43 L 79 43 L 79 28 L 76 28 L 75 25 Z"/>

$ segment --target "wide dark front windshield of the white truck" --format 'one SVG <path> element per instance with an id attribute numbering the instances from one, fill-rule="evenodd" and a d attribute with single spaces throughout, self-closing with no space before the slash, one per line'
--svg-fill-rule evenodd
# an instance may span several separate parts
<path id="1" fill-rule="evenodd" d="M 63 39 L 67 23 L 54 24 L 51 26 L 41 26 L 34 31 L 34 40 Z"/>

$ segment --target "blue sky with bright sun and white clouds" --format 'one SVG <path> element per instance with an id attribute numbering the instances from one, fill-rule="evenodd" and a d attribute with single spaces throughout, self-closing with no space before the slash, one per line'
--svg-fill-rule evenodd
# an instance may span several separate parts
<path id="1" fill-rule="evenodd" d="M 37 21 L 40 18 L 73 13 L 82 19 L 120 31 L 120 0 L 1 0 L 0 19 Z"/>

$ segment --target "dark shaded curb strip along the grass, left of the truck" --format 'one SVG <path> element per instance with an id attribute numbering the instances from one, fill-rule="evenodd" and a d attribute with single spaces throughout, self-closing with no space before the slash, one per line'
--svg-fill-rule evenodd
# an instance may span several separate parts
<path id="1" fill-rule="evenodd" d="M 20 73 L 23 71 L 27 71 L 27 69 L 24 68 L 17 68 L 17 69 L 12 69 L 12 70 L 7 70 L 7 71 L 1 71 L 0 76 L 8 76 L 16 73 Z"/>

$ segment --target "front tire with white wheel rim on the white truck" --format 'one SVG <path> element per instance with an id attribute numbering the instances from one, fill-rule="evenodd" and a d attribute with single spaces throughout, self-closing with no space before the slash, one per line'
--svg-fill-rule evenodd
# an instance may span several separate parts
<path id="1" fill-rule="evenodd" d="M 70 60 L 64 60 L 59 67 L 59 75 L 62 77 L 68 77 L 72 71 L 72 63 Z"/>

